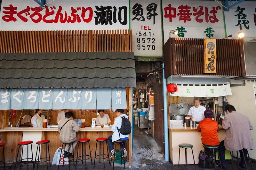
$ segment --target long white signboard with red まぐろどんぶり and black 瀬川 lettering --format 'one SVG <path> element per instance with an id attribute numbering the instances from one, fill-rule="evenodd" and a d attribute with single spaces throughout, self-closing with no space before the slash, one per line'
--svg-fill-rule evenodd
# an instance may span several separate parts
<path id="1" fill-rule="evenodd" d="M 51 1 L 48 1 L 51 2 Z M 129 1 L 2 0 L 0 30 L 129 29 Z"/>

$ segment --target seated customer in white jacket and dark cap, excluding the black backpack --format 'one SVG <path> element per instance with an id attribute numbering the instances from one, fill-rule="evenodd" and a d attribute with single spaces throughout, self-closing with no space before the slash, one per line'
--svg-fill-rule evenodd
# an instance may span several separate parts
<path id="1" fill-rule="evenodd" d="M 112 158 L 114 156 L 114 141 L 117 141 L 119 139 L 126 141 L 129 138 L 129 135 L 123 135 L 121 133 L 119 133 L 118 129 L 121 128 L 122 126 L 122 118 L 123 116 L 128 119 L 128 116 L 126 114 L 124 114 L 124 109 L 117 109 L 116 110 L 116 118 L 114 121 L 114 124 L 111 128 L 111 130 L 114 132 L 113 135 L 110 135 L 108 137 L 108 148 L 109 148 L 109 152 L 111 153 L 110 158 Z M 118 128 L 118 129 L 117 129 Z M 120 136 L 119 136 L 120 135 Z M 124 155 L 122 155 L 122 157 L 126 157 L 127 156 L 127 151 L 125 149 L 125 144 L 124 142 L 122 143 L 123 148 L 124 148 Z"/>

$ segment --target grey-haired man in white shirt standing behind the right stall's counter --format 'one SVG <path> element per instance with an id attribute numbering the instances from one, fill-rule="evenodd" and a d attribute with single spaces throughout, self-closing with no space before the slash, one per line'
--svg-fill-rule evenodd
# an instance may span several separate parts
<path id="1" fill-rule="evenodd" d="M 194 99 L 194 106 L 191 107 L 188 111 L 188 117 L 192 120 L 192 117 L 196 118 L 196 123 L 204 119 L 204 111 L 206 108 L 200 106 L 201 102 L 199 98 Z"/>

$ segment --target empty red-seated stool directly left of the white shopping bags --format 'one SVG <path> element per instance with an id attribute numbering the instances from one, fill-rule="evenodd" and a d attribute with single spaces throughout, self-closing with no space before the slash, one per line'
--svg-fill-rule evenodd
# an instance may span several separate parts
<path id="1" fill-rule="evenodd" d="M 48 169 L 48 161 L 49 161 L 49 164 L 51 166 L 51 159 L 50 159 L 50 151 L 49 151 L 49 143 L 50 141 L 49 140 L 40 140 L 40 141 L 37 141 L 36 144 L 37 144 L 37 148 L 36 148 L 36 156 L 37 156 L 37 150 L 38 150 L 38 146 L 39 146 L 39 151 L 38 151 L 38 158 L 35 160 L 35 166 L 36 166 L 36 162 L 37 162 L 37 168 L 38 168 L 38 164 L 40 163 L 44 163 L 46 162 L 46 169 Z M 44 158 L 39 158 L 40 156 L 40 149 L 41 149 L 41 145 L 42 144 L 45 144 L 45 154 L 46 154 L 46 157 Z M 47 145 L 48 145 L 48 156 L 47 156 Z M 44 162 L 41 162 L 41 159 L 46 159 Z M 34 167 L 35 169 L 35 167 Z"/>

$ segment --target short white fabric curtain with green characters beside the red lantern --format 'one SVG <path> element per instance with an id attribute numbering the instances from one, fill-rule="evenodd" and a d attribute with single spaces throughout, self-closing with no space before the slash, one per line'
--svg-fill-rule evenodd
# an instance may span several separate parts
<path id="1" fill-rule="evenodd" d="M 171 96 L 179 97 L 220 97 L 232 95 L 230 84 L 228 85 L 178 85 L 178 91 L 170 93 Z"/>

